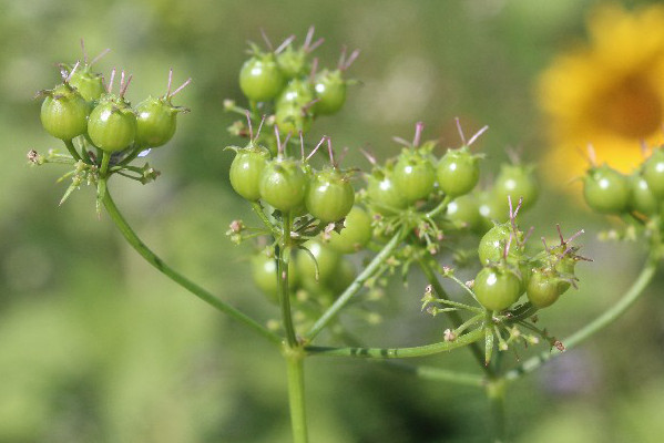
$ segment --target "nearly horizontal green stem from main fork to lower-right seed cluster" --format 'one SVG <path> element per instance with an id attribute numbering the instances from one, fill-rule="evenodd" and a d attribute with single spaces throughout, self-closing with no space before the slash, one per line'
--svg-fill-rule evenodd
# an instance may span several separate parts
<path id="1" fill-rule="evenodd" d="M 458 337 L 453 341 L 441 341 L 439 343 L 425 344 L 412 348 L 333 348 L 333 347 L 305 347 L 309 356 L 324 357 L 358 357 L 366 359 L 408 359 L 415 357 L 432 356 L 461 348 L 484 338 L 482 328 Z"/>

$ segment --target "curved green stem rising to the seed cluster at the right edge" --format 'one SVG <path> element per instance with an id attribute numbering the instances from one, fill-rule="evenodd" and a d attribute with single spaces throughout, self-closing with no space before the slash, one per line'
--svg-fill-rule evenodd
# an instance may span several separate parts
<path id="1" fill-rule="evenodd" d="M 565 349 L 572 349 L 576 344 L 581 343 L 583 340 L 588 339 L 600 329 L 606 327 L 607 324 L 613 323 L 623 312 L 625 312 L 643 293 L 643 290 L 651 282 L 655 272 L 657 270 L 657 258 L 653 253 L 648 256 L 645 267 L 641 270 L 641 274 L 634 280 L 630 289 L 625 292 L 625 295 L 617 300 L 615 303 L 611 306 L 600 317 L 588 323 L 584 328 L 581 328 L 575 333 L 571 334 L 566 339 L 562 340 Z M 541 367 L 543 363 L 552 359 L 553 357 L 560 356 L 561 352 L 541 352 L 538 356 L 534 356 L 523 363 L 521 363 L 518 368 L 512 369 L 511 371 L 504 374 L 504 379 L 512 381 L 517 380 L 525 373 L 532 372 L 537 368 Z"/>

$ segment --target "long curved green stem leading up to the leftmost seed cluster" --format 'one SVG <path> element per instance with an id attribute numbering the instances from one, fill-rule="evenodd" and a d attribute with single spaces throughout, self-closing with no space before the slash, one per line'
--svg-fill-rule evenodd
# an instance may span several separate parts
<path id="1" fill-rule="evenodd" d="M 185 288 L 186 290 L 192 292 L 194 296 L 198 297 L 201 300 L 205 301 L 206 303 L 211 305 L 212 307 L 216 308 L 217 310 L 219 310 L 224 313 L 227 313 L 228 316 L 233 317 L 235 320 L 238 320 L 239 322 L 248 326 L 255 332 L 258 332 L 261 336 L 263 336 L 267 340 L 272 341 L 273 343 L 279 344 L 282 342 L 282 339 L 277 334 L 275 334 L 274 332 L 272 332 L 270 330 L 265 328 L 263 324 L 261 324 L 257 321 L 255 321 L 254 319 L 247 317 L 245 313 L 241 312 L 236 308 L 233 308 L 232 306 L 219 300 L 218 298 L 213 296 L 211 292 L 206 291 L 198 285 L 194 284 L 186 277 L 182 276 L 181 274 L 176 272 L 174 269 L 172 269 L 170 266 L 167 266 L 164 261 L 162 261 L 162 259 L 160 257 L 157 257 L 136 236 L 134 230 L 126 223 L 126 220 L 124 219 L 124 217 L 122 216 L 122 214 L 120 213 L 118 207 L 115 206 L 115 202 L 113 202 L 113 199 L 111 198 L 111 194 L 108 190 L 104 195 L 103 203 L 104 203 L 104 206 L 106 207 L 106 210 L 109 212 L 109 215 L 111 216 L 111 219 L 113 220 L 113 223 L 115 224 L 118 229 L 120 229 L 120 231 L 122 233 L 124 238 L 129 241 L 129 244 L 136 250 L 136 253 L 139 253 L 145 260 L 147 260 L 149 264 L 154 266 L 157 270 L 160 270 L 162 274 L 164 274 L 171 280 L 175 281 L 177 285 L 182 286 L 183 288 Z"/>

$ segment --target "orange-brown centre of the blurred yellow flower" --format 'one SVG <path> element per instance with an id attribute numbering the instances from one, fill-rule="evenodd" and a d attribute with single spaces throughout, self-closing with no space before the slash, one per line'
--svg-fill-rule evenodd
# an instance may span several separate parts
<path id="1" fill-rule="evenodd" d="M 627 76 L 599 100 L 599 123 L 625 138 L 645 138 L 664 121 L 662 97 L 639 76 Z"/>

